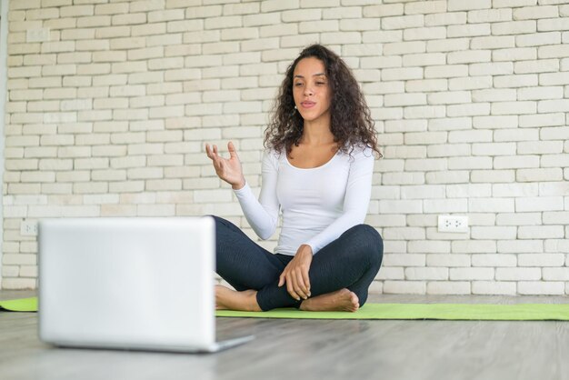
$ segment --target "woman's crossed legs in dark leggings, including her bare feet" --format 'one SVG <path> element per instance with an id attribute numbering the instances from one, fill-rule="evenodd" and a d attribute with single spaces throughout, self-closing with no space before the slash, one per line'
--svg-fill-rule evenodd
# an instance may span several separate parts
<path id="1" fill-rule="evenodd" d="M 381 266 L 381 236 L 369 225 L 355 225 L 314 255 L 309 272 L 312 297 L 296 301 L 286 286 L 277 286 L 293 257 L 273 255 L 231 222 L 214 217 L 217 273 L 237 290 L 216 286 L 218 308 L 260 311 L 293 306 L 355 311 L 364 305 L 367 289 Z"/>

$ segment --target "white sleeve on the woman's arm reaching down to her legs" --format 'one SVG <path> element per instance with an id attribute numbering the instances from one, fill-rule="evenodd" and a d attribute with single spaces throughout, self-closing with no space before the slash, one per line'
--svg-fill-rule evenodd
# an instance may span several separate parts
<path id="1" fill-rule="evenodd" d="M 371 148 L 355 148 L 354 162 L 350 165 L 348 183 L 344 196 L 344 213 L 322 232 L 309 239 L 306 245 L 316 254 L 325 245 L 340 237 L 354 225 L 364 223 L 369 200 L 372 195 L 372 176 L 374 175 L 374 155 Z"/>

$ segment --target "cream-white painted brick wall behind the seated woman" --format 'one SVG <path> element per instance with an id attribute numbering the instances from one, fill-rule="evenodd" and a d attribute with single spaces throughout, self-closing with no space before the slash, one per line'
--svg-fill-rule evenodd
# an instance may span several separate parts
<path id="1" fill-rule="evenodd" d="M 384 153 L 372 290 L 569 291 L 564 2 L 79 3 L 10 1 L 3 287 L 36 285 L 24 219 L 216 214 L 255 238 L 204 144 L 233 140 L 258 191 L 284 70 L 320 42 L 354 69 Z M 26 42 L 42 27 L 49 41 Z M 468 232 L 439 233 L 441 214 Z"/>

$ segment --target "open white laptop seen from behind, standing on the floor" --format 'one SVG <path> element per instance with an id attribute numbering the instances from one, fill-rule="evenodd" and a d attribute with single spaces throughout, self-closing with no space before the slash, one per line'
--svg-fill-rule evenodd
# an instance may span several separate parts
<path id="1" fill-rule="evenodd" d="M 54 345 L 216 352 L 215 220 L 39 222 L 39 335 Z"/>

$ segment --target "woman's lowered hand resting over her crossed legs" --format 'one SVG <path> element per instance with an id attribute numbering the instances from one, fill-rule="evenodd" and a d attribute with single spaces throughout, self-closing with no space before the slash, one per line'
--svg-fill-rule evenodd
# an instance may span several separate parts
<path id="1" fill-rule="evenodd" d="M 312 264 L 312 248 L 310 245 L 301 245 L 294 258 L 286 265 L 279 277 L 278 285 L 286 284 L 286 290 L 297 301 L 310 296 L 310 279 L 308 271 Z"/>

